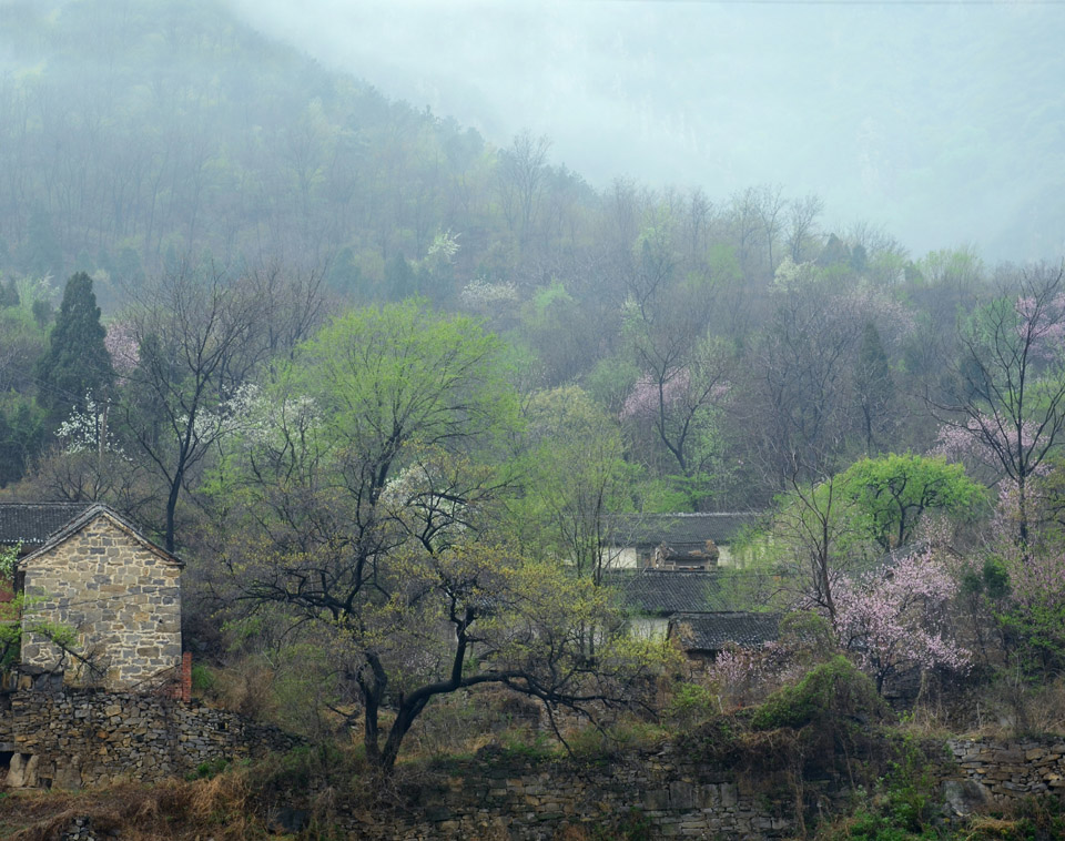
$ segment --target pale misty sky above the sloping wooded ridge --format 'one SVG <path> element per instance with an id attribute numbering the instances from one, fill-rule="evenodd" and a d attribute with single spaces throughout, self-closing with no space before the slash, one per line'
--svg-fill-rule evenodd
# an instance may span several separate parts
<path id="1" fill-rule="evenodd" d="M 548 135 L 596 186 L 779 184 L 914 254 L 1065 251 L 1058 3 L 230 2 L 491 143 Z"/>

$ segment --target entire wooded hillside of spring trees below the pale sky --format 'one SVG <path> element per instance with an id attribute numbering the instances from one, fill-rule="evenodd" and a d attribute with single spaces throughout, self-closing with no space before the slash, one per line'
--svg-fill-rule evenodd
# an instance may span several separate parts
<path id="1" fill-rule="evenodd" d="M 1061 264 L 594 189 L 207 0 L 3 3 L 0 48 L 2 496 L 186 558 L 245 706 L 384 769 L 481 683 L 646 706 L 671 655 L 602 548 L 662 511 L 761 513 L 734 608 L 821 616 L 876 690 L 1059 681 Z"/>

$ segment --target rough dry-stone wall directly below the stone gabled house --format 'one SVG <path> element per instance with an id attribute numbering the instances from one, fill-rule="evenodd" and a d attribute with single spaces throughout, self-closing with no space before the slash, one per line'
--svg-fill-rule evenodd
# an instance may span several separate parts
<path id="1" fill-rule="evenodd" d="M 276 728 L 170 698 L 91 690 L 0 695 L 0 754 L 13 788 L 152 782 L 296 744 Z"/>

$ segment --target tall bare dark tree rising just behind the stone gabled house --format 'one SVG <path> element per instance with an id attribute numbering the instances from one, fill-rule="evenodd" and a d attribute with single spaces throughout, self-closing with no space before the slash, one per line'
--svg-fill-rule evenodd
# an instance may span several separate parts
<path id="1" fill-rule="evenodd" d="M 242 386 L 306 337 L 321 308 L 317 276 L 292 278 L 277 266 L 236 282 L 184 271 L 141 295 L 130 315 L 140 358 L 119 414 L 166 488 L 168 550 L 190 472 L 240 423 Z"/>

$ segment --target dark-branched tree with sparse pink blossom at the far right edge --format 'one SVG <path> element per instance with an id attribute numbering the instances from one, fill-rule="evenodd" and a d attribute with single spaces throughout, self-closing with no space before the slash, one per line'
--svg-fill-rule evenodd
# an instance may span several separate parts
<path id="1" fill-rule="evenodd" d="M 955 388 L 931 401 L 940 452 L 967 452 L 1016 494 L 1014 539 L 1030 541 L 1031 485 L 1065 434 L 1065 276 L 1037 266 L 958 331 Z"/>

